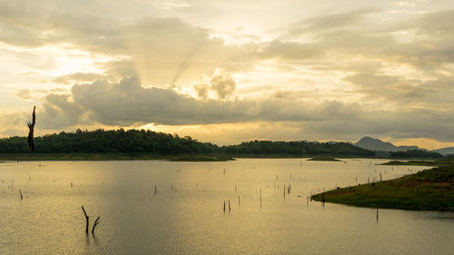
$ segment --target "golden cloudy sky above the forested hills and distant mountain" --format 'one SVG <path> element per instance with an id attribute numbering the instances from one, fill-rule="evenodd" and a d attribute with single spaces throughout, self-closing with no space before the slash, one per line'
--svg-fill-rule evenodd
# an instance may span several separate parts
<path id="1" fill-rule="evenodd" d="M 0 137 L 454 146 L 451 0 L 0 0 Z"/>

